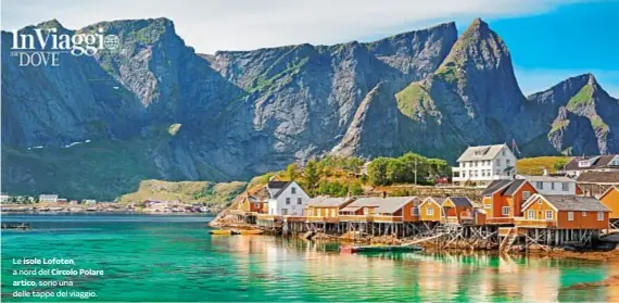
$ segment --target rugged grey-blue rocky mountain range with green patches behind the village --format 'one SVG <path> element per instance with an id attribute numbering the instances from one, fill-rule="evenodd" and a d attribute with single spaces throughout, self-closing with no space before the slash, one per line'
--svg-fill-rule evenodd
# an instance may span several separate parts
<path id="1" fill-rule="evenodd" d="M 18 66 L 2 31 L 11 193 L 110 199 L 142 179 L 249 179 L 326 153 L 453 161 L 468 144 L 511 139 L 525 154 L 619 151 L 618 101 L 593 76 L 526 98 L 481 20 L 459 37 L 445 23 L 374 42 L 215 54 L 186 46 L 166 18 L 21 33 L 35 27 L 101 28 L 121 47 Z"/>

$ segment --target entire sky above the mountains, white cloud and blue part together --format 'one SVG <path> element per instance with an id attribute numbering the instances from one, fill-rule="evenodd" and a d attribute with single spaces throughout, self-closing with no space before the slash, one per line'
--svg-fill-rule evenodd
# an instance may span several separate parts
<path id="1" fill-rule="evenodd" d="M 1 27 L 56 18 L 77 29 L 100 21 L 170 18 L 198 52 L 296 43 L 371 41 L 481 17 L 510 50 L 526 94 L 593 73 L 619 98 L 619 0 L 3 0 Z"/>

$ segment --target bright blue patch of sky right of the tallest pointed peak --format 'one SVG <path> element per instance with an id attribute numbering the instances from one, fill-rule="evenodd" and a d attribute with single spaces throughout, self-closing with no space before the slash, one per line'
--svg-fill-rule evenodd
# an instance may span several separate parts
<path id="1" fill-rule="evenodd" d="M 489 20 L 505 40 L 523 91 L 593 73 L 619 98 L 619 1 L 561 5 L 539 15 Z"/>

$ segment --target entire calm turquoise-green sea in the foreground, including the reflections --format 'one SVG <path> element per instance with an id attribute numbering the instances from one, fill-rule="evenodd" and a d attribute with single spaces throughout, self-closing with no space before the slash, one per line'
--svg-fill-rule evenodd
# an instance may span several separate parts
<path id="1" fill-rule="evenodd" d="M 30 222 L 2 232 L 2 300 L 20 290 L 94 292 L 88 301 L 619 301 L 619 286 L 572 289 L 619 275 L 618 262 L 386 253 L 346 255 L 338 244 L 269 236 L 211 236 L 207 217 L 3 216 Z M 13 258 L 73 258 L 14 265 Z M 14 287 L 14 269 L 91 268 L 73 287 Z M 26 277 L 27 278 L 27 277 Z M 81 300 L 87 301 L 87 300 Z"/>

